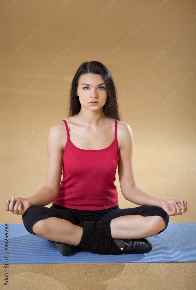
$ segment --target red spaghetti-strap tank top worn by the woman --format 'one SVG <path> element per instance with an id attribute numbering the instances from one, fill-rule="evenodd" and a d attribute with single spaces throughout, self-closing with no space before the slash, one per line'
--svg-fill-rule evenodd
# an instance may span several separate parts
<path id="1" fill-rule="evenodd" d="M 109 147 L 86 150 L 76 147 L 70 140 L 68 124 L 67 142 L 63 151 L 63 179 L 54 203 L 70 209 L 100 210 L 118 205 L 116 169 L 119 161 L 117 119 L 115 139 Z"/>

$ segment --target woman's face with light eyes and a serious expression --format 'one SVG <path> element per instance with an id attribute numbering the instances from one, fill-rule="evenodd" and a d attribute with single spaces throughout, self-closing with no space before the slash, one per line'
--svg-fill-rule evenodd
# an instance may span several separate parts
<path id="1" fill-rule="evenodd" d="M 78 80 L 77 95 L 81 106 L 91 111 L 101 109 L 107 100 L 106 85 L 101 75 L 92 73 L 81 75 Z"/>

